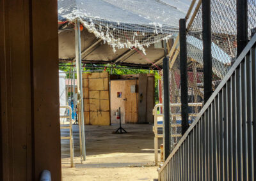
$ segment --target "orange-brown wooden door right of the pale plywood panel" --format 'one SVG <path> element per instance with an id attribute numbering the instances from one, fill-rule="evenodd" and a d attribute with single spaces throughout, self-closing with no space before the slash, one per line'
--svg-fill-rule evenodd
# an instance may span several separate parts
<path id="1" fill-rule="evenodd" d="M 131 87 L 137 87 L 138 80 L 125 80 L 125 123 L 138 122 L 138 92 L 132 92 Z"/>

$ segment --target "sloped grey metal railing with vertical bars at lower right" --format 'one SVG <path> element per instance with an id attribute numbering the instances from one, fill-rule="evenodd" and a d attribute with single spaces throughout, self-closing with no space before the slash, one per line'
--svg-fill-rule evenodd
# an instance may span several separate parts
<path id="1" fill-rule="evenodd" d="M 159 180 L 255 178 L 255 45 L 256 35 L 161 166 Z"/>

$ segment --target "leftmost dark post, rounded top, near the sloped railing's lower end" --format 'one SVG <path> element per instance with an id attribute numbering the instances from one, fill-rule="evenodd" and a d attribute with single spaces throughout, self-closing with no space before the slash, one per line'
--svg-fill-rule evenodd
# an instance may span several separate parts
<path id="1" fill-rule="evenodd" d="M 169 57 L 163 59 L 163 87 L 164 87 L 164 160 L 170 155 L 170 83 Z"/>

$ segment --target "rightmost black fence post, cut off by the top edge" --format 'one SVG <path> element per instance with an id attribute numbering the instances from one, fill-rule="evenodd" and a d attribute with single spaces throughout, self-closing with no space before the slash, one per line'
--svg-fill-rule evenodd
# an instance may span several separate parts
<path id="1" fill-rule="evenodd" d="M 241 54 L 248 41 L 248 0 L 236 0 L 237 20 L 237 57 Z"/>

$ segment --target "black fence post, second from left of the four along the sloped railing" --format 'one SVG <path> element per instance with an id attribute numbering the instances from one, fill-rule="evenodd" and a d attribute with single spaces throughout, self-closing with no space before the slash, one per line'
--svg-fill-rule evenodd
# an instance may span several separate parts
<path id="1" fill-rule="evenodd" d="M 188 125 L 188 67 L 186 19 L 180 19 L 180 101 L 181 101 L 181 132 L 186 133 Z"/>

